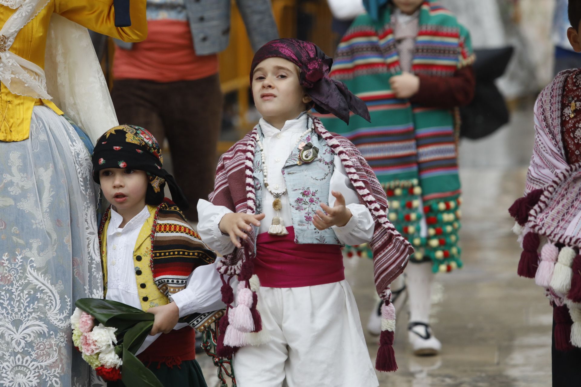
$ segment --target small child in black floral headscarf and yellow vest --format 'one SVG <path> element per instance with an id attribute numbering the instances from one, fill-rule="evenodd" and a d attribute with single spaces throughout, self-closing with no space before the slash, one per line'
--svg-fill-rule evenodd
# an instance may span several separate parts
<path id="1" fill-rule="evenodd" d="M 93 179 L 112 203 L 99 227 L 105 298 L 155 314 L 137 355 L 164 386 L 206 386 L 195 360 L 192 327 L 216 319 L 222 312 L 211 311 L 223 304 L 212 297 L 215 291 L 200 286 L 196 311 L 210 313 L 185 317 L 190 327 L 177 324 L 187 309 L 184 303 L 170 301 L 186 287 L 188 277 L 189 291 L 203 282 L 210 273 L 206 267 L 214 269 L 208 264 L 216 254 L 185 221 L 180 208 L 187 202 L 173 176 L 162 169 L 162 151 L 148 131 L 131 125 L 110 129 L 97 140 L 92 161 Z M 179 207 L 164 198 L 166 183 Z"/>

